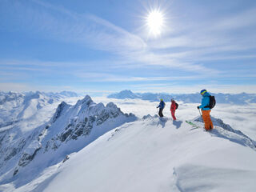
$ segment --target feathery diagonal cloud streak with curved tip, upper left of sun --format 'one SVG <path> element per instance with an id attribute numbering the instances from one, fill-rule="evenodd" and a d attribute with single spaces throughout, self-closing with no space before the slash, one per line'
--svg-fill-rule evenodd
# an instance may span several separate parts
<path id="1" fill-rule="evenodd" d="M 114 51 L 121 54 L 122 50 L 138 51 L 146 48 L 146 43 L 142 38 L 93 14 L 76 14 L 46 2 L 38 0 L 33 2 L 46 8 L 40 14 L 46 15 L 46 18 L 43 19 L 46 25 L 44 28 L 48 28 L 54 34 L 61 35 L 62 40 L 69 39 L 92 46 L 97 50 Z M 54 11 L 54 13 L 47 9 Z M 38 14 L 38 12 L 34 14 Z M 55 14 L 63 14 L 66 18 L 56 17 Z"/>

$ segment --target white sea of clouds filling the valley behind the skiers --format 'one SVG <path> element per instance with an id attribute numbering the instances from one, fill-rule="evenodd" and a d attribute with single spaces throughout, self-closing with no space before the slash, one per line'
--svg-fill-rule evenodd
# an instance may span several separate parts
<path id="1" fill-rule="evenodd" d="M 159 102 L 150 102 L 141 99 L 115 99 L 115 98 L 93 98 L 94 102 L 114 102 L 125 113 L 133 113 L 138 118 L 144 115 L 158 114 L 156 106 Z M 176 110 L 176 118 L 181 121 L 190 120 L 199 116 L 197 106 L 198 103 L 178 102 L 178 110 Z M 164 116 L 171 118 L 170 102 L 166 102 L 166 107 L 163 110 Z M 235 130 L 241 130 L 250 138 L 256 140 L 256 104 L 250 105 L 234 105 L 234 104 L 216 104 L 210 113 L 214 118 L 220 118 L 226 124 L 229 124 Z"/>

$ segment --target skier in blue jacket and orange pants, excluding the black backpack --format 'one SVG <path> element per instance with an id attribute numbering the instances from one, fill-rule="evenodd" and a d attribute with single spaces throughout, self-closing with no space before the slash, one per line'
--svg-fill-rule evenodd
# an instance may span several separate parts
<path id="1" fill-rule="evenodd" d="M 201 90 L 202 104 L 198 106 L 198 109 L 202 110 L 202 119 L 205 122 L 205 129 L 212 130 L 214 128 L 213 122 L 210 119 L 210 94 L 206 90 Z"/>

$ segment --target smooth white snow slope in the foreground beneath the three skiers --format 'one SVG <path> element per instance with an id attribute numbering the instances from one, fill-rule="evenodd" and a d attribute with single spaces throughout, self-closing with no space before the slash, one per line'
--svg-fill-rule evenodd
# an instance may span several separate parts
<path id="1" fill-rule="evenodd" d="M 123 106 L 132 106 L 131 101 Z M 139 111 L 145 114 L 156 110 L 155 103 L 144 107 Z M 178 121 L 146 115 L 126 122 L 46 167 L 26 185 L 2 183 L 0 191 L 256 191 L 256 148 L 250 135 L 214 113 L 214 130 L 190 126 L 186 119 L 202 126 L 200 117 L 189 114 L 189 106 L 179 107 Z"/>

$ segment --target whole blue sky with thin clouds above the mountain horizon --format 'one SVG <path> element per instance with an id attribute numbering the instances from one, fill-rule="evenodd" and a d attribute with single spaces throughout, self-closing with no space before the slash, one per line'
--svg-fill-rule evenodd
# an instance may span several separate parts
<path id="1" fill-rule="evenodd" d="M 256 93 L 255 1 L 0 5 L 0 90 Z M 158 35 L 146 24 L 154 10 Z"/>

